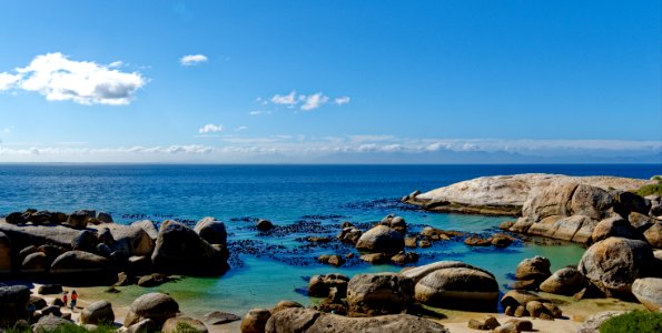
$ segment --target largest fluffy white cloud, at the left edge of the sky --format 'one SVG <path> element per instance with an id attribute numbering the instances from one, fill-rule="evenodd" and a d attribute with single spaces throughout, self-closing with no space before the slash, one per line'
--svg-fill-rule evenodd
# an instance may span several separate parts
<path id="1" fill-rule="evenodd" d="M 138 72 L 120 72 L 110 65 L 69 60 L 62 53 L 37 56 L 17 74 L 0 73 L 0 90 L 36 91 L 49 101 L 79 104 L 129 104 L 147 80 Z"/>

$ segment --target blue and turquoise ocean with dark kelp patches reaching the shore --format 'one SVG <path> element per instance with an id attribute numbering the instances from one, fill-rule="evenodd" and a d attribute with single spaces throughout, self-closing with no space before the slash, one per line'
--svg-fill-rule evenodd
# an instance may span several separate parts
<path id="1" fill-rule="evenodd" d="M 182 311 L 201 316 L 213 311 L 244 314 L 280 300 L 303 304 L 318 300 L 305 294 L 307 279 L 340 272 L 399 271 L 358 259 L 336 269 L 316 262 L 320 254 L 356 252 L 338 244 L 312 245 L 307 236 L 335 236 L 349 221 L 367 228 L 389 213 L 404 216 L 409 232 L 425 225 L 488 234 L 508 216 L 429 213 L 399 203 L 414 190 L 423 192 L 484 175 L 515 173 L 619 175 L 650 179 L 661 165 L 175 165 L 175 164 L 0 164 L 0 215 L 28 208 L 71 212 L 110 212 L 118 223 L 177 219 L 190 225 L 204 216 L 226 223 L 231 269 L 219 278 L 182 278 L 154 289 L 121 287 L 103 297 L 119 304 L 148 291 L 170 293 Z M 260 235 L 256 219 L 284 226 Z M 502 290 L 512 282 L 517 263 L 533 255 L 551 259 L 552 268 L 576 264 L 576 244 L 534 245 L 516 242 L 507 249 L 470 248 L 436 242 L 414 250 L 418 264 L 460 260 L 495 274 Z M 99 289 L 99 292 L 101 289 Z"/>

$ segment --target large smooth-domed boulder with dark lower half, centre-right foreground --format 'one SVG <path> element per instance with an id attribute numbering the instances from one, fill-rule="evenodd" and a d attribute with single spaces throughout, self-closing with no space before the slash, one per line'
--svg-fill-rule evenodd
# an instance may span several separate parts
<path id="1" fill-rule="evenodd" d="M 416 283 L 415 299 L 437 307 L 496 310 L 498 284 L 494 275 L 482 270 L 439 269 Z"/>

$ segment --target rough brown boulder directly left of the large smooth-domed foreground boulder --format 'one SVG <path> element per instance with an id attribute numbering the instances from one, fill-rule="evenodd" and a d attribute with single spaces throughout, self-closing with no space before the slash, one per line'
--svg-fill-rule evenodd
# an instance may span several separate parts
<path id="1" fill-rule="evenodd" d="M 401 274 L 357 274 L 347 284 L 347 305 L 350 315 L 382 315 L 401 313 L 414 295 L 414 281 Z"/>

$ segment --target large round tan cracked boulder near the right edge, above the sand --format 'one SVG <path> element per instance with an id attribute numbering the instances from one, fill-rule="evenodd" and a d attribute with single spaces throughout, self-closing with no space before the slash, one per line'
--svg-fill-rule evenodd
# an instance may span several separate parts
<path id="1" fill-rule="evenodd" d="M 634 280 L 645 276 L 652 263 L 646 242 L 609 238 L 589 248 L 577 269 L 607 296 L 628 297 Z"/>

